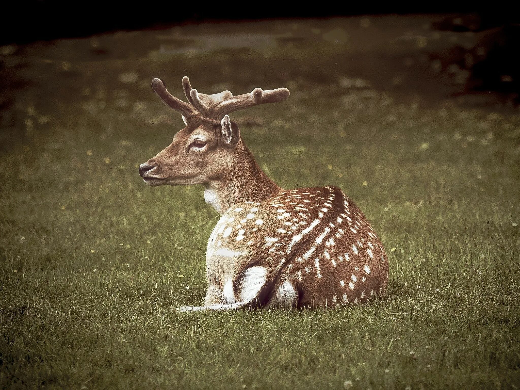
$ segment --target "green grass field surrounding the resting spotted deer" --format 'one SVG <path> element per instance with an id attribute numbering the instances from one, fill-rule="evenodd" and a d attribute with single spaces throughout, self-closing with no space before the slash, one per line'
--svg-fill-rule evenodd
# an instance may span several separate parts
<path id="1" fill-rule="evenodd" d="M 334 66 L 341 42 L 142 48 L 161 34 L 3 49 L 4 80 L 21 82 L 5 89 L 0 122 L 0 387 L 520 387 L 517 109 L 428 101 L 370 69 L 350 76 Z M 121 54 L 121 42 L 138 45 Z M 110 58 L 89 51 L 99 47 Z M 310 49 L 305 67 L 291 63 Z M 172 309 L 205 293 L 218 215 L 202 187 L 149 188 L 137 164 L 182 127 L 149 81 L 160 73 L 180 97 L 184 69 L 202 92 L 291 89 L 232 118 L 282 187 L 337 185 L 367 214 L 391 265 L 383 300 Z"/>

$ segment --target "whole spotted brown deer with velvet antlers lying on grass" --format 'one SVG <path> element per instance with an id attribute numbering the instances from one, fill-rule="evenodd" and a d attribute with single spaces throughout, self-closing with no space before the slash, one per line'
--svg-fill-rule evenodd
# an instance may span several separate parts
<path id="1" fill-rule="evenodd" d="M 388 259 L 356 204 L 337 187 L 284 190 L 258 166 L 229 114 L 289 97 L 287 88 L 206 95 L 182 81 L 188 102 L 153 79 L 186 125 L 139 166 L 148 186 L 201 184 L 219 214 L 207 242 L 203 306 L 177 310 L 341 308 L 384 295 Z"/>

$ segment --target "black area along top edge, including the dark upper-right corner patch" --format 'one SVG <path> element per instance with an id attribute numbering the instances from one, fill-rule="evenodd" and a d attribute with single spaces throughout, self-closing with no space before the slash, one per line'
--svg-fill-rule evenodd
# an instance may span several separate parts
<path id="1" fill-rule="evenodd" d="M 510 3 L 512 4 L 512 3 Z M 3 6 L 0 45 L 28 44 L 73 38 L 121 30 L 165 29 L 173 25 L 204 21 L 222 22 L 258 19 L 329 18 L 336 16 L 384 14 L 442 14 L 444 19 L 432 25 L 434 30 L 454 32 L 486 32 L 485 58 L 468 65 L 467 53 L 458 47 L 441 54 L 443 61 L 467 69 L 471 77 L 466 92 L 492 91 L 506 94 L 518 103 L 520 92 L 520 15 L 510 6 L 486 3 L 475 7 L 458 3 L 375 4 L 346 3 L 340 6 L 316 4 L 302 7 L 280 6 L 280 3 L 252 2 L 240 5 L 213 2 L 63 2 L 19 1 Z M 457 22 L 455 22 L 457 21 Z M 444 65 L 444 62 L 443 62 Z"/>

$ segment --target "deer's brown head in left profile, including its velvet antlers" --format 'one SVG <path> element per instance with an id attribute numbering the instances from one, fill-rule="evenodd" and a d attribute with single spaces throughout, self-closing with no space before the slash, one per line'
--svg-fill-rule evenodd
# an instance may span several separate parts
<path id="1" fill-rule="evenodd" d="M 218 179 L 226 170 L 237 170 L 237 149 L 240 130 L 229 119 L 229 113 L 244 108 L 283 101 L 289 97 L 287 88 L 262 90 L 233 96 L 225 90 L 205 95 L 191 88 L 188 77 L 183 89 L 188 103 L 172 96 L 163 81 L 152 80 L 152 89 L 170 108 L 183 115 L 186 127 L 173 137 L 164 150 L 139 166 L 139 174 L 149 186 L 205 184 Z"/>

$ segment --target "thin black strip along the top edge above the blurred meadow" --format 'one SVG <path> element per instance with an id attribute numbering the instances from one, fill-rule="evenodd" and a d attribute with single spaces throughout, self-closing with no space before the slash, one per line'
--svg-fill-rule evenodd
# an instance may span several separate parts
<path id="1" fill-rule="evenodd" d="M 512 3 L 511 3 L 512 4 Z M 445 28 L 481 31 L 516 24 L 520 21 L 512 5 L 420 3 L 376 4 L 352 2 L 343 5 L 317 7 L 287 6 L 277 3 L 252 2 L 244 6 L 213 2 L 63 2 L 29 0 L 10 2 L 0 27 L 0 44 L 28 43 L 38 40 L 79 37 L 115 30 L 163 28 L 172 24 L 201 21 L 253 20 L 270 18 L 326 18 L 334 16 L 381 14 L 463 14 L 471 15 L 471 23 Z"/>

